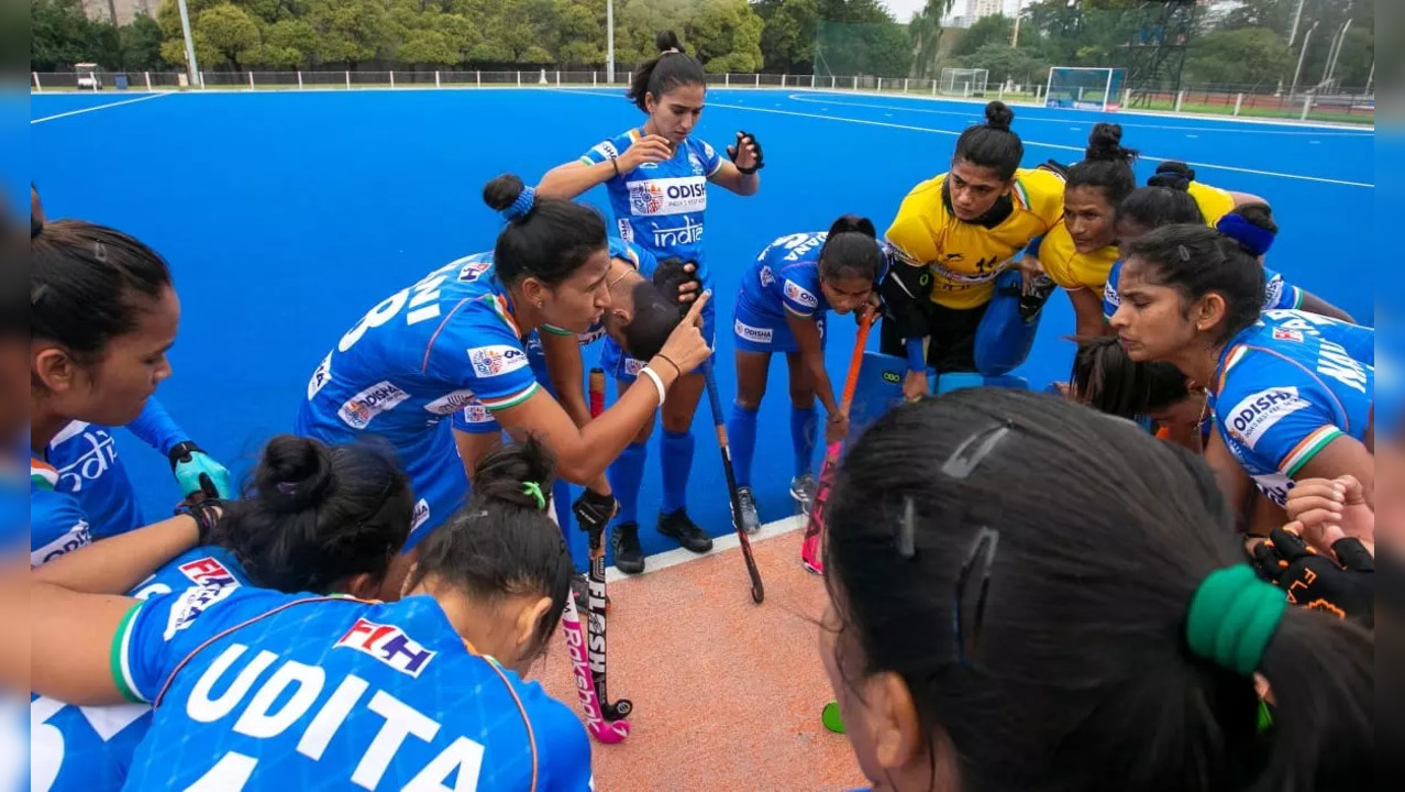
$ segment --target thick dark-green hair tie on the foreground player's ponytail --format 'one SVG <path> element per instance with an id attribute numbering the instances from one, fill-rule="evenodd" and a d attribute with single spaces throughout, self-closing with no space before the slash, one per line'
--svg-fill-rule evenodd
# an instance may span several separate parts
<path id="1" fill-rule="evenodd" d="M 1288 609 L 1288 599 L 1260 581 L 1249 564 L 1215 570 L 1200 584 L 1186 615 L 1186 641 L 1196 657 L 1248 677 Z"/>

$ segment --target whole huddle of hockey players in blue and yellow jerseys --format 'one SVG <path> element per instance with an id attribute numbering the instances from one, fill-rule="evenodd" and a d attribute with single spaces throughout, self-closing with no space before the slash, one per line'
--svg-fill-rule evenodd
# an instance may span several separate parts
<path id="1" fill-rule="evenodd" d="M 1269 269 L 1269 201 L 1180 163 L 1141 186 L 1110 124 L 1026 169 L 992 103 L 885 232 L 785 229 L 718 317 L 708 197 L 754 196 L 766 159 L 691 135 L 702 68 L 659 49 L 642 127 L 492 180 L 493 250 L 326 329 L 242 487 L 153 398 L 166 262 L 32 194 L 31 788 L 594 788 L 580 717 L 528 681 L 584 588 L 562 530 L 645 571 L 660 416 L 655 530 L 712 549 L 691 426 L 728 319 L 735 528 L 760 529 L 783 353 L 791 495 L 828 492 L 821 661 L 875 789 L 1368 786 L 1375 335 Z M 601 184 L 610 219 L 575 203 Z M 1023 363 L 1055 291 L 1068 383 L 946 392 Z M 906 371 L 854 439 L 830 314 Z M 180 513 L 140 513 L 115 426 L 170 459 Z M 832 478 L 821 437 L 849 443 Z"/>

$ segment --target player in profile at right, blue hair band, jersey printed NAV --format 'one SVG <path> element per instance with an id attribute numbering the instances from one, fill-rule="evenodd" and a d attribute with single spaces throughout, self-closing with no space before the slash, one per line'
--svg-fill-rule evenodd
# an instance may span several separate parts
<path id="1" fill-rule="evenodd" d="M 1263 312 L 1263 267 L 1203 225 L 1159 228 L 1127 255 L 1111 325 L 1132 360 L 1168 360 L 1205 384 L 1213 446 L 1222 443 L 1279 506 L 1300 478 L 1354 475 L 1373 498 L 1375 460 L 1363 439 L 1375 331 Z M 1222 487 L 1238 504 L 1238 485 Z"/>

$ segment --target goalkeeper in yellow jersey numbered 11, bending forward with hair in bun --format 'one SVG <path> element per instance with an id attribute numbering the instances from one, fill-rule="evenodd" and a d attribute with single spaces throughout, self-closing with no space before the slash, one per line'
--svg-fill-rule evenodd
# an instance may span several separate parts
<path id="1" fill-rule="evenodd" d="M 985 117 L 957 141 L 951 172 L 917 184 L 888 229 L 902 264 L 884 279 L 881 349 L 909 359 L 909 400 L 927 392 L 926 366 L 976 370 L 976 331 L 996 280 L 1064 215 L 1062 177 L 1020 169 L 1014 113 L 992 101 Z"/>

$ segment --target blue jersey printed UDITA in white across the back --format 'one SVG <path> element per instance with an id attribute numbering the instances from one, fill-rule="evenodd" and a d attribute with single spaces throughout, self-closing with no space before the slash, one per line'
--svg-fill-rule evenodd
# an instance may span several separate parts
<path id="1" fill-rule="evenodd" d="M 466 649 L 430 596 L 200 596 L 148 599 L 115 636 L 118 688 L 156 705 L 126 789 L 590 788 L 575 712 Z"/>

